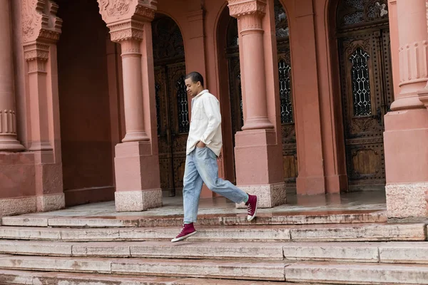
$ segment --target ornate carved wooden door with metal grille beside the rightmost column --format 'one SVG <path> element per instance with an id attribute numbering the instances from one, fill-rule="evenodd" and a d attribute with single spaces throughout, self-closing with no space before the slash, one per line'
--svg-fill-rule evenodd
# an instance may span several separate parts
<path id="1" fill-rule="evenodd" d="M 383 117 L 393 100 L 386 1 L 344 0 L 337 10 L 350 190 L 385 184 Z"/>

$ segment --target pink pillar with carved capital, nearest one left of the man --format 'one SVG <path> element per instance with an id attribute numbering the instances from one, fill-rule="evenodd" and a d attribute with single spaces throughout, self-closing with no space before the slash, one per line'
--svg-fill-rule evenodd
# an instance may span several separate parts
<path id="1" fill-rule="evenodd" d="M 120 43 L 122 51 L 126 135 L 115 148 L 116 211 L 161 207 L 151 39 L 156 6 L 98 4 L 111 41 Z"/>

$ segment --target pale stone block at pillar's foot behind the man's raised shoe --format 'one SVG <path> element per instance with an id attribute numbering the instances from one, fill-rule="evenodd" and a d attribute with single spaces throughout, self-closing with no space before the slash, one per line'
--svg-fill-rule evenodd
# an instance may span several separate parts
<path id="1" fill-rule="evenodd" d="M 250 195 L 257 195 L 259 208 L 272 208 L 287 202 L 284 182 L 267 185 L 238 185 L 238 187 Z M 236 207 L 246 208 L 247 206 L 245 203 L 240 203 L 236 204 Z"/>

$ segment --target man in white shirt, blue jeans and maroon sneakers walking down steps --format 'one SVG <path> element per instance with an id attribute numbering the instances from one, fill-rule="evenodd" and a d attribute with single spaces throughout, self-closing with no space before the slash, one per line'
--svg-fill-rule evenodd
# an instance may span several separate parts
<path id="1" fill-rule="evenodd" d="M 193 223 L 198 216 L 202 185 L 235 203 L 245 202 L 248 221 L 257 212 L 257 196 L 248 195 L 227 180 L 218 178 L 217 157 L 222 147 L 220 105 L 217 98 L 203 87 L 203 77 L 192 72 L 185 77 L 187 92 L 192 96 L 192 118 L 187 141 L 183 177 L 184 225 L 171 240 L 178 242 L 196 234 Z"/>

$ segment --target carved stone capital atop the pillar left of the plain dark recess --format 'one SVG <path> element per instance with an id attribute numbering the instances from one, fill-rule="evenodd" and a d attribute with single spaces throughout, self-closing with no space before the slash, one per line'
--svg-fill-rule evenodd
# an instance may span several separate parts
<path id="1" fill-rule="evenodd" d="M 51 0 L 21 0 L 23 42 L 58 41 L 62 20 L 57 11 L 58 5 Z"/>

